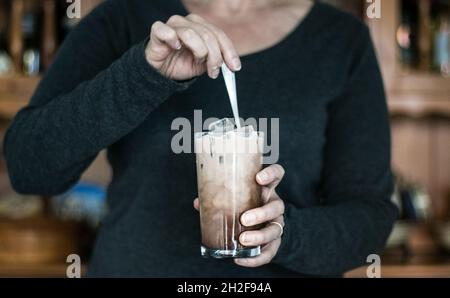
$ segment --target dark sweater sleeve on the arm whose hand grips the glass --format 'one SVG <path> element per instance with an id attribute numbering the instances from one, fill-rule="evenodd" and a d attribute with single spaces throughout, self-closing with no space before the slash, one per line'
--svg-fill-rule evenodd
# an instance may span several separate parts
<path id="1" fill-rule="evenodd" d="M 296 272 L 340 275 L 365 264 L 382 251 L 397 216 L 390 200 L 388 111 L 367 27 L 354 49 L 346 86 L 328 109 L 322 204 L 286 204 L 273 262 Z"/>

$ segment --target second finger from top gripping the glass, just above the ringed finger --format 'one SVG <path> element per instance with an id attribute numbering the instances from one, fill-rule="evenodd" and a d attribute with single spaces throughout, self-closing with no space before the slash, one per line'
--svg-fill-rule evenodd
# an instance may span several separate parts
<path id="1" fill-rule="evenodd" d="M 272 199 L 266 205 L 246 211 L 241 216 L 241 223 L 244 226 L 254 226 L 268 221 L 272 221 L 283 215 L 284 203 L 280 199 Z"/>

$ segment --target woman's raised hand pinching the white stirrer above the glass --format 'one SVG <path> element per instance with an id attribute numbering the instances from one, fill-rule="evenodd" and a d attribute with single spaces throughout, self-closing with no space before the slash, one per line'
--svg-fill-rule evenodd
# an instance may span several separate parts
<path id="1" fill-rule="evenodd" d="M 148 63 L 165 77 L 183 81 L 208 72 L 216 79 L 225 62 L 233 71 L 241 60 L 228 36 L 198 15 L 172 16 L 155 22 L 145 50 Z"/>

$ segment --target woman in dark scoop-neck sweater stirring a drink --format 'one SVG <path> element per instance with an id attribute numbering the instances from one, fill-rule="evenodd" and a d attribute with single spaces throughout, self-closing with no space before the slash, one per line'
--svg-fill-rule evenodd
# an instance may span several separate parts
<path id="1" fill-rule="evenodd" d="M 241 218 L 279 224 L 243 233 L 242 244 L 264 249 L 234 261 L 199 257 L 195 157 L 170 149 L 175 118 L 231 115 L 214 80 L 222 62 L 240 70 L 244 119 L 280 119 L 280 165 L 257 181 L 282 183 Z M 9 129 L 5 155 L 18 192 L 55 195 L 104 148 L 110 212 L 90 276 L 341 275 L 383 248 L 396 217 L 368 30 L 325 4 L 106 1 L 63 44 Z"/>

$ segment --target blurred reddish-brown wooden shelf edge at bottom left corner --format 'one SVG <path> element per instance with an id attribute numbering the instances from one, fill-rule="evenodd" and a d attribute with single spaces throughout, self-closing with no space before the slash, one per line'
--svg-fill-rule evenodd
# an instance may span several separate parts
<path id="1" fill-rule="evenodd" d="M 4 277 L 66 277 L 69 264 L 0 264 L 0 278 Z M 86 273 L 86 266 L 81 266 L 81 275 Z"/>

